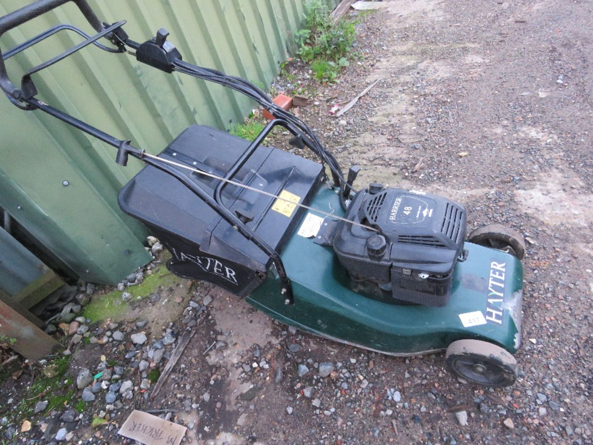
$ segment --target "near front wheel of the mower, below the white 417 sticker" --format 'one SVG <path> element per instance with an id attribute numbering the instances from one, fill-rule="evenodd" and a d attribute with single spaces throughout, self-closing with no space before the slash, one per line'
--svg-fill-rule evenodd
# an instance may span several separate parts
<path id="1" fill-rule="evenodd" d="M 505 349 L 481 340 L 458 340 L 445 360 L 455 374 L 489 387 L 511 386 L 517 380 L 517 360 Z"/>

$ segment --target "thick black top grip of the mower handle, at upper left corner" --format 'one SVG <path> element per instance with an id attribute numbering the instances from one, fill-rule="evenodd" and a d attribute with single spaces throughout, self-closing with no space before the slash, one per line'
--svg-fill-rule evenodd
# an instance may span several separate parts
<path id="1" fill-rule="evenodd" d="M 4 17 L 0 17 L 0 37 L 2 35 L 23 23 L 33 20 L 52 9 L 58 8 L 68 2 L 74 2 L 78 9 L 82 12 L 82 15 L 87 19 L 88 23 L 95 29 L 95 31 L 102 31 L 103 25 L 97 18 L 97 15 L 93 12 L 87 0 L 37 0 L 23 8 L 17 9 L 16 11 L 9 12 Z M 15 87 L 10 79 L 8 78 L 8 72 L 4 64 L 4 57 L 0 49 L 0 88 L 8 96 L 8 98 L 15 103 L 20 101 L 22 98 L 21 90 Z M 16 104 L 16 103 L 15 103 Z"/>

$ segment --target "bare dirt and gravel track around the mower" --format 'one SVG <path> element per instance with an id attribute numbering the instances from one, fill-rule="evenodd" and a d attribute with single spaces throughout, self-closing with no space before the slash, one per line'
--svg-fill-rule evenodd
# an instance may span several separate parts
<path id="1" fill-rule="evenodd" d="M 444 354 L 387 357 L 297 332 L 206 285 L 208 310 L 158 398 L 111 419 L 170 410 L 188 443 L 208 444 L 593 443 L 591 17 L 586 0 L 385 1 L 358 25 L 364 56 L 298 110 L 345 169 L 362 167 L 359 186 L 445 195 L 466 206 L 468 231 L 526 237 L 514 386 L 463 384 Z M 337 379 L 299 377 L 323 362 Z M 116 431 L 87 425 L 76 443 L 122 443 Z"/>

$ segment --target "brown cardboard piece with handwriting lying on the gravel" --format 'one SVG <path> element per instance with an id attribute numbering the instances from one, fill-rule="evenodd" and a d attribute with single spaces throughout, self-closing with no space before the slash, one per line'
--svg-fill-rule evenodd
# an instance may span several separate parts
<path id="1" fill-rule="evenodd" d="M 179 445 L 186 427 L 135 409 L 117 432 L 145 445 Z"/>

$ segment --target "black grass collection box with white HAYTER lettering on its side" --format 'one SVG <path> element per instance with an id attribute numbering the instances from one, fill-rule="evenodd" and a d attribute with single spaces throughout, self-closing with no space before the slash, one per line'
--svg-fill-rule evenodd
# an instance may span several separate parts
<path id="1" fill-rule="evenodd" d="M 248 145 L 237 136 L 193 125 L 159 157 L 224 177 Z M 190 177 L 214 195 L 218 179 L 199 173 Z M 285 190 L 307 205 L 323 177 L 320 164 L 260 145 L 234 180 L 273 195 Z M 264 280 L 269 256 L 169 174 L 146 166 L 123 187 L 118 201 L 124 212 L 148 225 L 170 250 L 173 258 L 167 266 L 174 274 L 213 282 L 241 297 Z M 278 252 L 304 211 L 297 206 L 281 213 L 274 209 L 275 198 L 231 184 L 224 188 L 222 202 Z"/>

